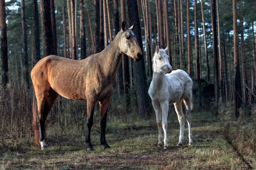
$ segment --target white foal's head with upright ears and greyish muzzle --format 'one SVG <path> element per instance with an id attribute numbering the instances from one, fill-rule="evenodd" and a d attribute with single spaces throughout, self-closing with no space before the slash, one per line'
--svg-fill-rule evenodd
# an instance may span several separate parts
<path id="1" fill-rule="evenodd" d="M 165 50 L 156 47 L 156 52 L 152 59 L 153 71 L 157 73 L 171 73 L 172 66 L 169 63 L 169 56 L 167 55 L 167 47 Z"/>

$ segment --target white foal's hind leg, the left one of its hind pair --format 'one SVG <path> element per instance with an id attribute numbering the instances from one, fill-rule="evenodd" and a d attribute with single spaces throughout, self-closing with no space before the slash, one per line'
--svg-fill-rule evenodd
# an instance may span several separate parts
<path id="1" fill-rule="evenodd" d="M 181 102 L 182 102 L 182 98 L 179 101 L 177 101 L 176 103 L 174 103 L 175 111 L 177 113 L 178 120 L 180 122 L 180 137 L 179 137 L 179 143 L 177 144 L 177 146 L 182 145 L 182 141 L 184 138 L 183 137 L 184 136 L 184 114 L 182 111 Z"/>

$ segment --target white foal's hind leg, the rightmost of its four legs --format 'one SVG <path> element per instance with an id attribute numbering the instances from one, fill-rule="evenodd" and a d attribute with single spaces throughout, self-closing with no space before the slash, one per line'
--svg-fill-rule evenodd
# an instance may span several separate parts
<path id="1" fill-rule="evenodd" d="M 191 129 L 191 100 L 192 100 L 192 94 L 184 99 L 184 104 L 186 105 L 186 119 L 188 122 L 188 127 L 189 127 L 189 146 L 192 145 L 193 143 L 193 136 L 192 136 L 192 129 Z"/>

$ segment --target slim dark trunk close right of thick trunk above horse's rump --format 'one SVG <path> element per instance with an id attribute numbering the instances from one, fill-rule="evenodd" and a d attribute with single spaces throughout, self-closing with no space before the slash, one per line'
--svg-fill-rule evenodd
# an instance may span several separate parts
<path id="1" fill-rule="evenodd" d="M 55 6 L 54 0 L 50 0 L 51 6 L 51 21 L 52 21 L 52 54 L 57 55 L 57 31 L 56 31 L 56 20 L 55 20 Z"/>

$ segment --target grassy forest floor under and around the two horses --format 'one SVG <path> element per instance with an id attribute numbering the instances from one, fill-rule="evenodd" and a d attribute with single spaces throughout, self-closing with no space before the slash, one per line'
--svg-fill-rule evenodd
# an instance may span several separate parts
<path id="1" fill-rule="evenodd" d="M 111 117 L 109 118 L 111 119 Z M 185 123 L 183 146 L 177 147 L 179 123 L 172 113 L 168 119 L 169 149 L 157 147 L 155 120 L 134 125 L 108 126 L 106 139 L 112 147 L 104 150 L 99 144 L 99 125 L 93 126 L 92 144 L 87 151 L 84 136 L 48 134 L 49 147 L 40 150 L 33 139 L 19 139 L 15 145 L 0 142 L 0 169 L 248 169 L 256 170 L 256 152 L 252 147 L 252 127 L 230 126 L 233 147 L 225 140 L 223 122 L 211 113 L 192 113 L 193 144 L 188 146 Z M 112 129 L 112 130 L 110 130 Z M 111 132 L 110 132 L 111 131 Z M 240 156 L 239 156 L 240 155 Z"/>

